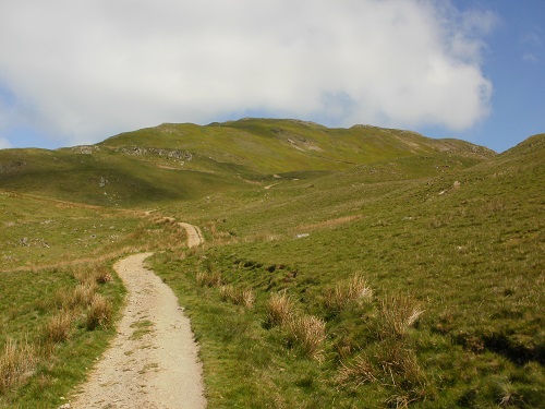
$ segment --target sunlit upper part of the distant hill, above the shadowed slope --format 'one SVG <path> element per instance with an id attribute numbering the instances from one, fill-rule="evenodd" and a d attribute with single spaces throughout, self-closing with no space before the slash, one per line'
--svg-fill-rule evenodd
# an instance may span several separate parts
<path id="1" fill-rule="evenodd" d="M 328 129 L 311 122 L 274 119 L 244 119 L 206 127 L 162 124 L 113 136 L 104 147 L 178 149 L 192 154 L 187 169 L 210 169 L 229 164 L 231 169 L 254 173 L 301 170 L 339 170 L 407 156 L 438 153 L 482 160 L 494 153 L 456 140 L 432 140 L 420 134 L 356 125 Z"/>

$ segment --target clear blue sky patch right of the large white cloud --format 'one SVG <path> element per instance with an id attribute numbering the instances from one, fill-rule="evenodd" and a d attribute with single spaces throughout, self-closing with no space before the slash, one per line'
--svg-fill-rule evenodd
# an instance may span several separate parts
<path id="1" fill-rule="evenodd" d="M 484 38 L 483 72 L 494 85 L 491 113 L 455 135 L 502 152 L 545 133 L 545 1 L 460 0 L 456 4 L 492 10 L 498 23 Z M 449 134 L 441 129 L 422 132 L 436 137 Z"/>

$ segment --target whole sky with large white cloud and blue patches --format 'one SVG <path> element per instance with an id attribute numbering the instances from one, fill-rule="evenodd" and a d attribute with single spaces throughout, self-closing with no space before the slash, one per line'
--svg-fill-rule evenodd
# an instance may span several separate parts
<path id="1" fill-rule="evenodd" d="M 545 0 L 0 0 L 0 148 L 165 122 L 545 132 Z"/>

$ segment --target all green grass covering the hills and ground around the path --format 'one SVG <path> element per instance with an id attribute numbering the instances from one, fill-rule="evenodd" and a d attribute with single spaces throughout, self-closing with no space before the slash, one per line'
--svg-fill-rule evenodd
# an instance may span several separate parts
<path id="1" fill-rule="evenodd" d="M 495 156 L 397 130 L 241 120 L 130 132 L 90 155 L 8 149 L 0 347 L 40 348 L 78 261 L 164 250 L 154 269 L 191 316 L 210 408 L 538 407 L 544 141 Z M 164 215 L 206 244 L 183 249 Z M 96 288 L 117 311 L 117 278 Z M 111 330 L 56 325 L 58 358 L 1 405 L 33 406 L 40 388 L 58 405 Z"/>

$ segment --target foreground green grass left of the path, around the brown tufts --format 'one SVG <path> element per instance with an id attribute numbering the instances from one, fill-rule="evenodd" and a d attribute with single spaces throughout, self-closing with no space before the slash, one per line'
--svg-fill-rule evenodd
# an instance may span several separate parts
<path id="1" fill-rule="evenodd" d="M 89 329 L 86 320 L 92 305 L 84 300 L 68 304 L 77 282 L 69 268 L 2 273 L 0 346 L 28 345 L 32 353 L 22 361 L 31 361 L 25 376 L 1 392 L 0 407 L 61 405 L 60 398 L 82 382 L 87 369 L 106 349 L 114 335 L 113 326 L 97 325 Z M 97 285 L 94 291 L 106 297 L 114 311 L 119 310 L 123 288 L 118 279 Z M 68 318 L 68 334 L 51 337 L 48 323 L 59 314 Z M 3 371 L 0 375 L 7 376 Z"/>

